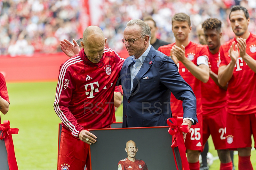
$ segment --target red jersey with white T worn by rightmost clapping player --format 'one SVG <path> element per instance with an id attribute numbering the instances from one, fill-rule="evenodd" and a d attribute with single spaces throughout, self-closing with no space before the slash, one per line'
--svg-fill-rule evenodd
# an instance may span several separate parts
<path id="1" fill-rule="evenodd" d="M 228 65 L 231 61 L 228 50 L 233 41 L 237 43 L 236 38 L 232 38 L 220 46 L 220 66 Z M 255 34 L 250 33 L 246 40 L 246 53 L 256 60 Z M 252 71 L 241 57 L 236 60 L 233 76 L 228 81 L 227 96 L 228 113 L 256 113 L 256 73 Z"/>

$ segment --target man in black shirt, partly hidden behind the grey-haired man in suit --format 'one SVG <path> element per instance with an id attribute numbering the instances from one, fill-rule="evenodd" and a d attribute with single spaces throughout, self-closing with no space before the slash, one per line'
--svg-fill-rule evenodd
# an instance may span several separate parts
<path id="1" fill-rule="evenodd" d="M 150 39 L 150 44 L 157 50 L 160 46 L 163 45 L 167 45 L 169 43 L 164 42 L 162 40 L 159 40 L 156 37 L 156 31 L 157 31 L 157 27 L 156 27 L 156 22 L 154 21 L 154 19 L 151 16 L 145 17 L 143 18 L 143 21 L 146 22 L 150 29 L 151 29 L 151 39 Z"/>

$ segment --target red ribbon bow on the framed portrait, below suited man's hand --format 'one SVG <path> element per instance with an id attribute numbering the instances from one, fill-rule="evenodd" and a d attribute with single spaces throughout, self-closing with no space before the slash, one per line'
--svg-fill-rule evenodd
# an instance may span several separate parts
<path id="1" fill-rule="evenodd" d="M 180 151 L 182 167 L 184 168 L 184 170 L 189 170 L 188 159 L 186 157 L 186 147 L 185 147 L 184 139 L 183 139 L 183 135 L 182 135 L 182 132 L 188 133 L 189 128 L 188 128 L 188 125 L 181 125 L 182 122 L 183 122 L 182 117 L 175 117 L 175 118 L 167 119 L 167 124 L 168 124 L 168 126 L 170 126 L 168 132 L 170 135 L 172 135 L 172 146 L 171 147 L 172 147 L 176 167 L 178 168 L 176 156 L 174 153 L 174 148 L 178 146 L 179 151 Z"/>

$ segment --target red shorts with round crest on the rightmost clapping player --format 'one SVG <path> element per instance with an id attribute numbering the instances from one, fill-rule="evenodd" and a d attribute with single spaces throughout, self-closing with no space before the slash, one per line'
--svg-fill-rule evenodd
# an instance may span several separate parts
<path id="1" fill-rule="evenodd" d="M 231 150 L 252 147 L 252 135 L 256 138 L 256 113 L 227 116 L 227 146 Z M 256 145 L 254 144 L 254 148 Z"/>

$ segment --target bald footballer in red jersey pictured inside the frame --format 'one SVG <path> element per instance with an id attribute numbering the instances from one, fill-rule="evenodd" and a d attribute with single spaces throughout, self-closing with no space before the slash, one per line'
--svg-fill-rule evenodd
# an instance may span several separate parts
<path id="1" fill-rule="evenodd" d="M 126 142 L 125 151 L 127 158 L 118 162 L 118 170 L 148 170 L 148 166 L 143 160 L 135 158 L 138 148 L 134 141 Z"/>

